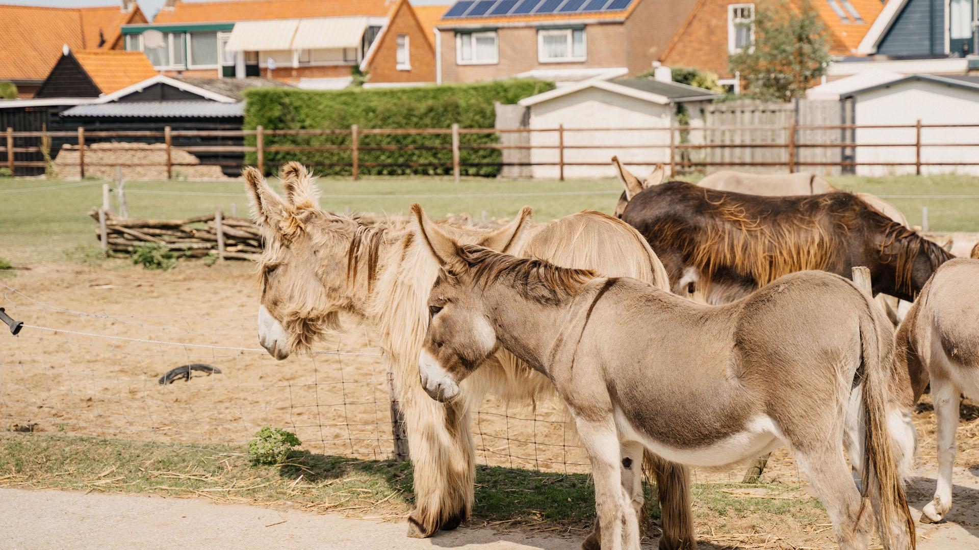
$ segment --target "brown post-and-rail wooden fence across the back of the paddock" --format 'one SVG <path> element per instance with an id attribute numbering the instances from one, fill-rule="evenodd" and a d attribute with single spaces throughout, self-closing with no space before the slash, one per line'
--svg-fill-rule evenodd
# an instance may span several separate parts
<path id="1" fill-rule="evenodd" d="M 568 166 L 600 166 L 608 165 L 608 160 L 604 160 L 604 155 L 601 156 L 602 159 L 598 160 L 592 158 L 589 160 L 576 160 L 582 155 L 583 151 L 590 151 L 594 153 L 595 151 L 607 151 L 608 158 L 611 159 L 613 155 L 617 154 L 617 150 L 642 150 L 648 151 L 648 157 L 646 158 L 623 158 L 622 160 L 629 164 L 655 164 L 657 162 L 666 159 L 666 164 L 670 166 L 670 172 L 672 175 L 676 175 L 679 171 L 699 169 L 703 170 L 705 168 L 710 169 L 714 166 L 730 166 L 730 167 L 767 167 L 786 169 L 789 172 L 798 171 L 801 168 L 814 168 L 821 167 L 822 171 L 826 168 L 834 167 L 855 167 L 859 165 L 875 165 L 875 166 L 913 166 L 914 173 L 920 174 L 923 166 L 979 166 L 979 155 L 971 157 L 970 160 L 956 160 L 956 161 L 943 161 L 943 160 L 927 160 L 922 156 L 922 150 L 926 149 L 937 149 L 937 148 L 975 148 L 979 147 L 979 139 L 966 140 L 961 142 L 948 142 L 948 141 L 933 141 L 926 142 L 922 140 L 922 130 L 929 129 L 967 129 L 967 128 L 977 128 L 979 129 L 979 124 L 924 124 L 920 120 L 916 124 L 877 124 L 877 125 L 866 125 L 866 124 L 835 124 L 835 125 L 812 125 L 812 124 L 797 124 L 794 120 L 790 121 L 786 125 L 782 126 L 772 126 L 772 125 L 751 125 L 751 124 L 738 124 L 733 126 L 711 126 L 709 128 L 704 126 L 674 126 L 674 127 L 651 127 L 651 128 L 574 128 L 558 126 L 556 128 L 520 128 L 520 129 L 499 129 L 499 128 L 461 128 L 458 124 L 453 124 L 450 128 L 359 128 L 356 125 L 350 127 L 350 129 L 302 129 L 302 130 L 264 130 L 261 126 L 258 126 L 255 130 L 210 130 L 210 131 L 195 131 L 195 130 L 180 130 L 171 131 L 167 127 L 163 132 L 138 132 L 138 131 L 117 131 L 117 132 L 105 132 L 105 131 L 86 131 L 84 128 L 79 127 L 77 132 L 15 132 L 12 128 L 7 128 L 6 131 L 6 147 L 0 146 L 0 167 L 7 167 L 12 173 L 17 173 L 17 168 L 19 167 L 37 167 L 44 166 L 43 161 L 36 160 L 18 160 L 18 154 L 27 153 L 38 153 L 41 151 L 41 146 L 33 147 L 15 147 L 16 138 L 34 138 L 40 142 L 40 140 L 47 137 L 60 137 L 60 138 L 73 138 L 75 146 L 71 148 L 71 151 L 77 150 L 78 152 L 78 174 L 80 177 L 85 177 L 86 169 L 94 166 L 160 166 L 163 167 L 163 173 L 167 179 L 172 179 L 174 177 L 175 168 L 178 166 L 197 166 L 202 165 L 199 162 L 187 162 L 174 160 L 175 152 L 185 152 L 191 155 L 195 153 L 238 153 L 238 154 L 255 154 L 255 163 L 258 169 L 265 169 L 265 156 L 269 152 L 289 152 L 300 154 L 303 152 L 324 152 L 324 151 L 342 151 L 350 154 L 349 162 L 321 162 L 317 164 L 316 162 L 310 162 L 312 166 L 316 165 L 344 165 L 350 166 L 350 175 L 353 179 L 360 177 L 360 170 L 363 167 L 377 167 L 377 166 L 411 166 L 414 165 L 412 162 L 363 162 L 360 160 L 360 153 L 364 151 L 415 151 L 415 150 L 426 150 L 426 151 L 444 151 L 444 160 L 440 162 L 429 162 L 426 165 L 439 165 L 444 168 L 451 167 L 451 173 L 456 181 L 460 177 L 460 168 L 463 165 L 461 161 L 461 151 L 463 150 L 475 150 L 475 149 L 493 149 L 502 152 L 501 160 L 498 162 L 489 162 L 499 166 L 535 166 L 535 165 L 549 165 L 557 167 L 557 175 L 561 180 L 565 179 L 565 169 Z M 858 135 L 858 130 L 913 130 L 915 139 L 913 142 L 892 142 L 883 143 L 881 142 L 868 142 L 868 143 L 858 143 L 853 138 L 841 139 L 840 136 L 855 136 Z M 689 136 L 696 136 L 696 134 L 704 132 L 739 132 L 740 136 L 750 135 L 757 136 L 757 141 L 745 141 L 744 139 L 732 140 L 730 142 L 725 142 L 722 140 L 721 143 L 712 143 L 710 141 L 704 140 L 703 136 L 701 139 L 688 139 Z M 581 136 L 583 134 L 588 134 L 593 132 L 596 137 L 595 142 L 589 145 L 569 145 L 566 143 L 566 135 L 570 132 Z M 615 143 L 608 141 L 608 136 L 617 135 L 616 133 L 625 132 L 647 132 L 647 133 L 659 133 L 669 132 L 669 145 L 636 145 L 635 143 L 625 144 L 625 143 Z M 553 143 L 547 144 L 535 144 L 533 140 L 513 140 L 504 139 L 507 134 L 523 133 L 526 135 L 533 135 L 535 133 L 550 133 L 551 135 L 556 135 L 556 139 L 552 140 Z M 462 144 L 460 141 L 460 136 L 465 134 L 485 134 L 493 135 L 496 138 L 497 143 L 486 143 L 486 144 Z M 326 135 L 343 135 L 350 138 L 350 142 L 347 145 L 266 145 L 265 138 L 268 136 L 326 136 Z M 388 135 L 388 136 L 398 136 L 398 135 L 442 135 L 450 136 L 450 143 L 444 145 L 421 145 L 421 146 L 398 146 L 398 145 L 362 145 L 360 143 L 360 138 L 365 135 Z M 245 146 L 230 146 L 230 145 L 208 145 L 208 146 L 185 146 L 176 147 L 173 145 L 173 139 L 175 137 L 241 137 L 241 138 L 254 138 L 255 146 L 245 145 Z M 777 139 L 772 139 L 771 136 L 775 136 Z M 802 136 L 808 136 L 806 139 L 800 139 Z M 813 136 L 816 136 L 815 138 Z M 829 139 L 829 143 L 825 139 L 819 139 L 819 136 L 834 136 Z M 97 138 L 99 140 L 112 140 L 125 142 L 127 139 L 132 138 L 158 138 L 160 142 L 157 144 L 163 149 L 163 162 L 147 162 L 145 160 L 140 160 L 136 158 L 134 160 L 127 161 L 113 161 L 113 162 L 99 162 L 93 160 L 86 160 L 86 152 L 94 151 L 91 146 L 86 146 L 89 143 L 86 140 Z M 686 139 L 684 139 L 686 138 Z M 278 140 L 281 141 L 281 140 Z M 523 143 L 519 143 L 523 141 Z M 659 143 L 663 143 L 665 140 L 656 140 Z M 886 140 L 889 141 L 889 140 Z M 579 141 L 579 143 L 581 143 Z M 126 144 L 120 144 L 121 147 L 113 147 L 113 152 L 125 151 L 125 152 L 141 152 L 145 153 L 147 149 L 144 147 L 140 148 L 127 148 Z M 841 152 L 845 149 L 858 150 L 858 149 L 872 149 L 872 148 L 912 148 L 913 154 L 911 156 L 904 156 L 897 158 L 897 160 L 880 160 L 873 159 L 872 161 L 861 161 L 858 157 L 853 157 L 854 160 L 846 160 L 846 158 L 841 157 Z M 545 161 L 531 161 L 526 156 L 527 150 L 535 149 L 545 149 L 557 152 L 556 158 L 554 160 Z M 751 149 L 753 151 L 770 152 L 768 159 L 740 159 L 737 158 L 732 152 L 739 150 Z M 66 151 L 66 150 L 63 150 Z M 512 158 L 514 156 L 508 156 L 508 151 L 518 151 L 523 152 L 522 156 Z M 800 154 L 800 152 L 814 152 L 808 154 Z M 691 152 L 699 152 L 700 155 L 690 154 Z M 51 152 L 52 156 L 57 155 L 59 152 Z M 666 155 L 664 155 L 666 154 Z M 138 156 L 137 156 L 138 157 Z M 226 163 L 227 161 L 224 161 Z M 221 162 L 217 162 L 220 164 Z M 488 162 L 482 162 L 487 164 Z M 469 165 L 469 164 L 465 164 Z"/>

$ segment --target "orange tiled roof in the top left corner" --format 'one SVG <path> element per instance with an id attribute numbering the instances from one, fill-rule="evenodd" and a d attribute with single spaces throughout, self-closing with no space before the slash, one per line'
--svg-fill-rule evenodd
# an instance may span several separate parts
<path id="1" fill-rule="evenodd" d="M 99 48 L 99 29 L 112 48 L 122 23 L 145 23 L 133 5 L 127 12 L 109 8 L 41 8 L 0 5 L 0 80 L 43 80 L 61 58 L 62 46 L 72 50 Z"/>

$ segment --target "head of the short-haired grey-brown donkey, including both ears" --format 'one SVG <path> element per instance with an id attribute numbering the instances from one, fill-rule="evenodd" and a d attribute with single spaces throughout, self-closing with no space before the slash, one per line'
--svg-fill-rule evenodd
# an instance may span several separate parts
<path id="1" fill-rule="evenodd" d="M 462 380 L 496 350 L 496 332 L 484 311 L 482 293 L 473 284 L 463 249 L 432 223 L 421 206 L 412 205 L 411 213 L 416 235 L 442 266 L 428 299 L 430 321 L 418 370 L 422 388 L 433 399 L 448 401 L 459 393 Z M 524 206 L 511 224 L 511 243 L 520 240 L 530 216 L 531 208 Z"/>

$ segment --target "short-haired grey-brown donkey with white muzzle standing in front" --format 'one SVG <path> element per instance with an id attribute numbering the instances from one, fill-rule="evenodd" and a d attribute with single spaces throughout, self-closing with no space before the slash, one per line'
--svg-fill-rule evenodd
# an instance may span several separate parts
<path id="1" fill-rule="evenodd" d="M 422 386 L 453 402 L 499 348 L 550 379 L 591 462 L 603 548 L 639 548 L 641 490 L 628 459 L 723 467 L 782 444 L 816 488 L 844 550 L 867 548 L 871 499 L 885 548 L 913 548 L 902 472 L 914 440 L 893 408 L 894 330 L 849 280 L 793 273 L 748 298 L 703 305 L 629 278 L 460 246 L 412 206 L 442 271 L 418 358 Z M 844 460 L 844 420 L 860 384 L 862 490 Z M 624 476 L 624 474 L 626 474 Z"/>

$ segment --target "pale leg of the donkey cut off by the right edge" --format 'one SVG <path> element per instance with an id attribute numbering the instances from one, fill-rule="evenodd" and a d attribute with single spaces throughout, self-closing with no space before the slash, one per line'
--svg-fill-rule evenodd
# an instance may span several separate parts
<path id="1" fill-rule="evenodd" d="M 933 377 L 931 397 L 938 421 L 938 485 L 935 497 L 921 510 L 924 523 L 941 522 L 952 508 L 952 467 L 956 464 L 958 389 L 947 378 Z"/>

